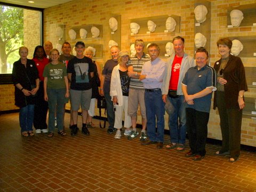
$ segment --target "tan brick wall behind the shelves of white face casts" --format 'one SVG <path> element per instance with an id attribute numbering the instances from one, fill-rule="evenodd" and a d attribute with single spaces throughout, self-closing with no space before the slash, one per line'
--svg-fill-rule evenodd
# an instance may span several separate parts
<path id="1" fill-rule="evenodd" d="M 66 25 L 66 34 L 72 27 L 98 24 L 103 27 L 103 37 L 97 39 L 86 39 L 84 42 L 96 43 L 103 45 L 103 57 L 97 59 L 98 62 L 105 63 L 110 58 L 108 50 L 108 41 L 110 40 L 110 29 L 108 19 L 111 14 L 121 15 L 121 49 L 129 50 L 130 43 L 134 39 L 141 38 L 146 42 L 167 41 L 173 37 L 180 35 L 186 40 L 185 50 L 188 54 L 193 55 L 194 51 L 194 3 L 197 1 L 73 1 L 66 4 L 50 7 L 44 11 L 44 39 L 52 41 L 53 45 L 58 43 L 55 37 L 55 28 L 59 24 Z M 211 39 L 210 39 L 210 60 L 219 59 L 216 42 L 219 37 L 223 36 L 256 36 L 256 27 L 239 27 L 228 29 L 227 26 L 227 8 L 230 6 L 239 6 L 256 3 L 255 0 L 213 0 L 211 1 Z M 146 17 L 155 17 L 158 15 L 178 15 L 181 18 L 180 33 L 157 33 L 157 34 L 137 34 L 131 36 L 130 20 Z M 89 32 L 90 33 L 90 32 Z M 71 44 L 68 35 L 66 40 Z M 79 34 L 77 34 L 78 38 Z M 242 58 L 244 66 L 256 67 L 255 58 Z M 256 98 L 255 89 L 250 88 L 245 93 L 246 97 Z M 98 110 L 97 110 L 98 111 Z M 167 122 L 167 116 L 165 116 Z M 165 129 L 168 129 L 167 123 Z M 256 120 L 243 118 L 242 124 L 242 144 L 256 146 Z M 217 111 L 211 110 L 209 120 L 209 138 L 221 140 L 221 132 L 219 125 L 219 115 Z"/>

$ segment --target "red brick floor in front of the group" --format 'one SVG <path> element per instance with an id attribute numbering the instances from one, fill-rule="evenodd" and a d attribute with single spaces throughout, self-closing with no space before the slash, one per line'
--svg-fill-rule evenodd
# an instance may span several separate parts
<path id="1" fill-rule="evenodd" d="M 0 191 L 256 191 L 254 152 L 241 151 L 229 163 L 228 156 L 213 155 L 220 146 L 208 144 L 205 158 L 195 162 L 185 151 L 141 146 L 123 135 L 117 140 L 99 127 L 90 136 L 71 137 L 66 129 L 66 137 L 56 131 L 53 138 L 24 138 L 18 118 L 0 116 Z"/>

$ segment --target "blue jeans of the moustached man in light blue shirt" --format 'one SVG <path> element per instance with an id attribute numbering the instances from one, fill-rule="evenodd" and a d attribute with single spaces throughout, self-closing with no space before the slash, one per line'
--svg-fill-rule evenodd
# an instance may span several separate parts
<path id="1" fill-rule="evenodd" d="M 161 90 L 145 91 L 145 106 L 149 140 L 164 142 L 164 102 Z"/>

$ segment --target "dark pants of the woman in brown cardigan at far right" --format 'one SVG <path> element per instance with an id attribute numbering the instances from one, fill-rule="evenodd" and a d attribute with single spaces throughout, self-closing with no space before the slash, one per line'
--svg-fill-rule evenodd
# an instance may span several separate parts
<path id="1" fill-rule="evenodd" d="M 221 151 L 230 151 L 232 158 L 240 155 L 241 126 L 243 110 L 226 108 L 224 92 L 217 91 L 217 107 L 220 114 L 220 128 L 222 134 Z"/>

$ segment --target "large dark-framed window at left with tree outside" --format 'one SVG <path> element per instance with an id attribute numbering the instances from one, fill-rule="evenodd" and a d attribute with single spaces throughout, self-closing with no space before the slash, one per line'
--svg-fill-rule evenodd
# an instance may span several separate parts
<path id="1" fill-rule="evenodd" d="M 42 44 L 42 10 L 0 4 L 0 83 L 10 83 L 19 47 L 28 47 L 28 58 Z M 7 78 L 7 79 L 6 79 Z M 6 82 L 7 81 L 7 82 Z"/>

